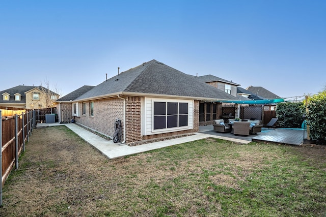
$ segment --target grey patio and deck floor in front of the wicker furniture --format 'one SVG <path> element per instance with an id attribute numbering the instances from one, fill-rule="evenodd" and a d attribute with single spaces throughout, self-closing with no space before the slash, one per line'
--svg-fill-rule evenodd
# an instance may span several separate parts
<path id="1" fill-rule="evenodd" d="M 281 129 L 277 128 L 275 130 L 262 129 L 262 132 L 257 135 L 249 136 L 236 136 L 231 133 L 218 133 L 213 131 L 213 127 L 205 126 L 200 127 L 200 132 L 210 135 L 219 135 L 228 138 L 236 138 L 253 142 L 273 142 L 278 144 L 287 144 L 287 145 L 301 145 L 303 144 L 304 132 L 302 129 Z M 305 132 L 305 138 L 307 137 L 307 132 Z"/>

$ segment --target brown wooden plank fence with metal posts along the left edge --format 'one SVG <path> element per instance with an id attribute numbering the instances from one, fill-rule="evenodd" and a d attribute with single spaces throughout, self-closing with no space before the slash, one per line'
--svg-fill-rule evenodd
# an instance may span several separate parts
<path id="1" fill-rule="evenodd" d="M 14 116 L 3 116 L 0 109 L 0 205 L 2 205 L 2 188 L 11 170 L 18 169 L 18 157 L 25 151 L 25 141 L 33 131 L 33 112 L 26 111 Z"/>

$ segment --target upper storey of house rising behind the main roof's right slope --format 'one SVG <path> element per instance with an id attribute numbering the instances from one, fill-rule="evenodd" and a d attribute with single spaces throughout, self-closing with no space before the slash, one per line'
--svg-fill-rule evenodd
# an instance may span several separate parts
<path id="1" fill-rule="evenodd" d="M 237 96 L 237 86 L 240 86 L 240 84 L 213 75 L 203 75 L 194 77 L 202 82 L 205 82 L 206 84 L 209 84 L 222 91 L 225 91 L 227 94 L 231 94 L 234 97 Z"/>

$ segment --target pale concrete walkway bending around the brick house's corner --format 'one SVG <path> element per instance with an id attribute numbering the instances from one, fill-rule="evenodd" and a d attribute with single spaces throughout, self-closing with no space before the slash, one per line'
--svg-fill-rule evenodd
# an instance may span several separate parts
<path id="1" fill-rule="evenodd" d="M 111 141 L 106 140 L 106 139 L 104 139 L 100 136 L 97 136 L 96 134 L 94 134 L 82 127 L 79 127 L 78 125 L 76 125 L 74 123 L 64 123 L 64 124 L 60 124 L 60 123 L 49 123 L 49 124 L 42 123 L 42 124 L 40 124 L 40 123 L 38 123 L 37 128 L 59 126 L 59 125 L 65 125 L 67 128 L 72 130 L 75 134 L 77 134 L 80 138 L 82 138 L 86 142 L 90 143 L 95 148 L 97 148 L 102 154 L 104 154 L 109 159 L 121 158 L 124 156 L 128 156 L 130 154 L 141 153 L 141 152 L 145 152 L 145 151 L 149 151 L 149 150 L 153 150 L 153 149 L 168 147 L 168 146 L 177 145 L 177 144 L 181 144 L 181 143 L 185 143 L 185 142 L 191 142 L 191 141 L 195 141 L 195 140 L 199 140 L 199 139 L 205 139 L 208 137 L 229 140 L 229 141 L 233 141 L 236 143 L 242 143 L 242 144 L 250 143 L 250 141 L 246 141 L 246 140 L 205 134 L 205 131 L 210 131 L 212 126 L 207 126 L 207 127 L 203 126 L 200 129 L 200 133 L 195 133 L 192 136 L 185 136 L 185 137 L 180 137 L 180 138 L 176 138 L 176 139 L 169 139 L 169 140 L 152 142 L 152 143 L 136 145 L 136 146 L 128 146 L 128 145 L 121 144 L 121 143 L 114 143 L 113 140 L 111 140 Z"/>

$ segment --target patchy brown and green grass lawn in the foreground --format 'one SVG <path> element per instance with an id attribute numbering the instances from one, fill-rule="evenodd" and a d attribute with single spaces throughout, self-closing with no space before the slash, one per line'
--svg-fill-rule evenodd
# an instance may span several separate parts
<path id="1" fill-rule="evenodd" d="M 36 129 L 0 216 L 326 216 L 325 148 L 206 139 L 109 160 Z"/>

